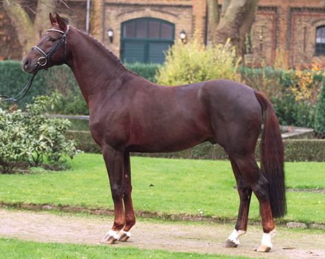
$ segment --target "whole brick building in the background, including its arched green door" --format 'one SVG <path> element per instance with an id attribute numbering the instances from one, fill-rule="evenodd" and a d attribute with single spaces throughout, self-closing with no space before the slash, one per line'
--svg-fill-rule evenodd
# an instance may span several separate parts
<path id="1" fill-rule="evenodd" d="M 66 0 L 60 12 L 86 28 L 86 0 Z M 219 0 L 221 4 L 222 1 Z M 92 13 L 91 13 L 92 14 Z M 32 15 L 32 14 L 31 14 Z M 206 42 L 206 0 L 104 0 L 93 34 L 124 62 L 163 62 L 163 51 L 180 34 Z M 0 58 L 22 54 L 12 21 L 0 8 Z M 111 36 L 108 36 L 110 33 Z M 282 59 L 290 66 L 309 64 L 325 54 L 324 0 L 260 0 L 247 58 L 256 64 Z"/>

